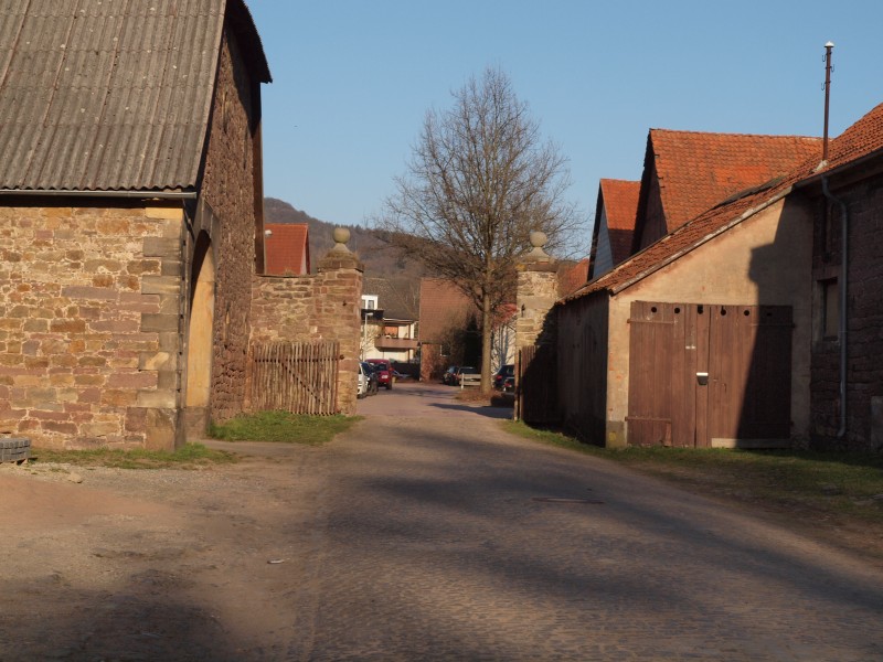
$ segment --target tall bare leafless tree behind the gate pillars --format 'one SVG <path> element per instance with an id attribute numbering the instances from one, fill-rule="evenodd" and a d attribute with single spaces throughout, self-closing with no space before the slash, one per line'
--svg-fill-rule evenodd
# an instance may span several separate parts
<path id="1" fill-rule="evenodd" d="M 509 77 L 488 68 L 429 110 L 405 175 L 381 222 L 389 241 L 456 284 L 481 319 L 481 388 L 490 391 L 494 310 L 514 298 L 515 259 L 534 229 L 555 250 L 584 228 L 564 200 L 566 159 L 542 142 L 540 126 Z"/>

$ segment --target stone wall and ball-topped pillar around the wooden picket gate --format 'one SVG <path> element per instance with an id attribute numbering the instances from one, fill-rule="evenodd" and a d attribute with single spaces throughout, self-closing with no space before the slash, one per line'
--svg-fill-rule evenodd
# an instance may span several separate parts
<path id="1" fill-rule="evenodd" d="M 252 286 L 252 342 L 340 342 L 338 409 L 347 415 L 355 414 L 363 270 L 355 255 L 338 248 L 315 276 L 258 275 Z"/>

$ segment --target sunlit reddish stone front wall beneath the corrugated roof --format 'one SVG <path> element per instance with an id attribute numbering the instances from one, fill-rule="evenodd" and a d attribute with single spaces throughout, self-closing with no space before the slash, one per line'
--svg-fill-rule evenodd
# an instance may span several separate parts
<path id="1" fill-rule="evenodd" d="M 0 434 L 170 448 L 182 210 L 64 202 L 0 207 Z"/>

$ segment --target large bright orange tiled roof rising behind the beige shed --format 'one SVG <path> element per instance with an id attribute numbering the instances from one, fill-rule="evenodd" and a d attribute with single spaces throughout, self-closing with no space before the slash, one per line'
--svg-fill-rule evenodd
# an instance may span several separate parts
<path id="1" fill-rule="evenodd" d="M 643 177 L 655 171 L 671 232 L 725 197 L 820 154 L 819 138 L 650 129 Z"/>

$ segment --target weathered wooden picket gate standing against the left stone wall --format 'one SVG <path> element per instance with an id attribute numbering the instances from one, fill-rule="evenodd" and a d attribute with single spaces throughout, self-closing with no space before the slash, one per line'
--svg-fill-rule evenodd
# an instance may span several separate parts
<path id="1" fill-rule="evenodd" d="M 252 410 L 337 414 L 339 355 L 337 342 L 253 344 Z"/>

